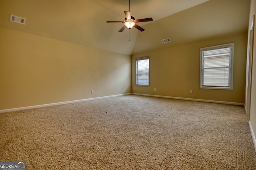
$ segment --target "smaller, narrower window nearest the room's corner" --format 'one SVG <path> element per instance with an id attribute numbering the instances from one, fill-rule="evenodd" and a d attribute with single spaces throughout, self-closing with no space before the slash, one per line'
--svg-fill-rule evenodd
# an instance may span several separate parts
<path id="1" fill-rule="evenodd" d="M 135 59 L 136 86 L 149 86 L 149 57 Z"/>

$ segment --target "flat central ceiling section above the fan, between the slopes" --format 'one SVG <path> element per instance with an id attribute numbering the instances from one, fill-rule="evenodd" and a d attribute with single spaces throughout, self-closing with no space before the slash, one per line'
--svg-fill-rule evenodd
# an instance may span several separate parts
<path id="1" fill-rule="evenodd" d="M 122 21 L 129 11 L 129 0 L 91 0 L 102 8 L 116 14 Z M 130 0 L 130 12 L 136 19 L 154 18 L 154 21 L 186 10 L 208 0 Z"/>

